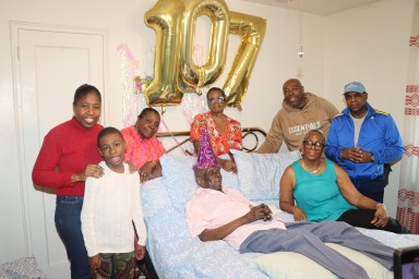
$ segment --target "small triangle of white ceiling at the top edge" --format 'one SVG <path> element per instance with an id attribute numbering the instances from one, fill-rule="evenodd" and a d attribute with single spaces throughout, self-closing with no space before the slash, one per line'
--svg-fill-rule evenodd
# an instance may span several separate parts
<path id="1" fill-rule="evenodd" d="M 259 4 L 300 10 L 307 13 L 330 15 L 382 0 L 241 0 Z"/>

